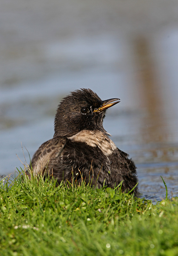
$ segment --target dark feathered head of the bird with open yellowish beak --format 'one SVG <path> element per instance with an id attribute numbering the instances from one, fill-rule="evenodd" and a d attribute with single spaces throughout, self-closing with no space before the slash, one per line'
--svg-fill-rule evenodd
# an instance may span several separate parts
<path id="1" fill-rule="evenodd" d="M 69 137 L 82 130 L 100 130 L 103 128 L 103 119 L 106 109 L 117 104 L 119 99 L 101 100 L 90 89 L 81 89 L 71 92 L 59 104 L 55 116 L 54 137 Z"/>

